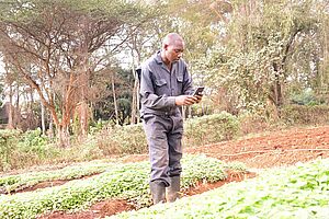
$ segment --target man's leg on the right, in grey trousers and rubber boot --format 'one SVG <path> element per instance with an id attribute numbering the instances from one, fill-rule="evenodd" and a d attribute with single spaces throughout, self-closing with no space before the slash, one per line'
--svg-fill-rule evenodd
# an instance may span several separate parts
<path id="1" fill-rule="evenodd" d="M 172 118 L 173 127 L 168 134 L 169 145 L 169 183 L 167 188 L 167 201 L 172 203 L 179 198 L 180 181 L 181 181 L 181 159 L 182 159 L 182 136 L 183 136 L 183 120 L 181 117 Z"/>

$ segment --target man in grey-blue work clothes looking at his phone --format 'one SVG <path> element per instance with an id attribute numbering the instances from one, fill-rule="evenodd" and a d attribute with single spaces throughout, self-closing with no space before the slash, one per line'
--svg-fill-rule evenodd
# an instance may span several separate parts
<path id="1" fill-rule="evenodd" d="M 141 65 L 140 116 L 149 146 L 150 191 L 154 204 L 174 201 L 180 192 L 182 172 L 183 119 L 181 106 L 202 100 L 193 96 L 192 78 L 181 59 L 184 42 L 177 33 L 168 34 L 162 49 Z"/>

